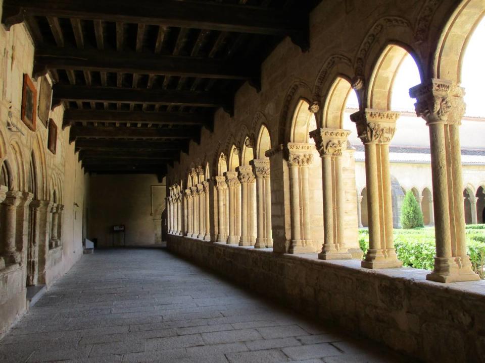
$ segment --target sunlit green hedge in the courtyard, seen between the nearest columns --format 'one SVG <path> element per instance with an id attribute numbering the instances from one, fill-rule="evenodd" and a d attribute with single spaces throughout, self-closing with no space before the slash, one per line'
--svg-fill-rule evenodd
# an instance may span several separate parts
<path id="1" fill-rule="evenodd" d="M 474 225 L 477 226 L 477 225 Z M 479 226 L 479 225 L 478 225 Z M 473 270 L 485 279 L 485 233 L 481 228 L 468 228 L 466 231 L 467 253 Z M 369 248 L 369 231 L 359 229 L 360 249 L 365 253 Z M 398 258 L 404 266 L 432 270 L 435 255 L 434 228 L 395 229 L 394 246 Z"/>

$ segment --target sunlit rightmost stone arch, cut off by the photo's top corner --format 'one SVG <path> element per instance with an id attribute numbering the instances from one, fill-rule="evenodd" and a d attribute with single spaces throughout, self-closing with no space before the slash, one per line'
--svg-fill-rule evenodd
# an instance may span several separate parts
<path id="1" fill-rule="evenodd" d="M 448 19 L 433 55 L 432 78 L 461 83 L 466 46 L 485 15 L 485 1 L 463 0 Z"/>

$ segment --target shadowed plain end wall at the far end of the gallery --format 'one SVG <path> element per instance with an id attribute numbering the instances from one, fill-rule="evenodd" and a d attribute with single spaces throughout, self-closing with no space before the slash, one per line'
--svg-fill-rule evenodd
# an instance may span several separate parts
<path id="1" fill-rule="evenodd" d="M 111 228 L 119 224 L 125 225 L 127 246 L 162 242 L 165 183 L 158 183 L 155 175 L 92 174 L 90 188 L 88 236 L 98 238 L 98 247 L 112 246 Z M 123 237 L 115 235 L 115 245 L 118 239 Z"/>

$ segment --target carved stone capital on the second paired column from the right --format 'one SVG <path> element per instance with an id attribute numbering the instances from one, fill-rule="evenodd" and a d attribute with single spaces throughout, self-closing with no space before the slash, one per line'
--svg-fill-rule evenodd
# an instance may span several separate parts
<path id="1" fill-rule="evenodd" d="M 396 132 L 400 113 L 366 108 L 350 115 L 357 127 L 357 135 L 364 144 L 388 144 Z"/>

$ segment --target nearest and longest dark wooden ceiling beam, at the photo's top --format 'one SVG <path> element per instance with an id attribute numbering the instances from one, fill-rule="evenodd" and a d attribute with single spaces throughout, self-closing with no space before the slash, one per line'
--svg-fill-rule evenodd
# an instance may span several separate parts
<path id="1" fill-rule="evenodd" d="M 165 25 L 266 35 L 306 31 L 308 17 L 298 11 L 260 7 L 150 0 L 5 0 L 3 23 L 10 27 L 25 15 L 55 16 L 135 24 Z"/>

